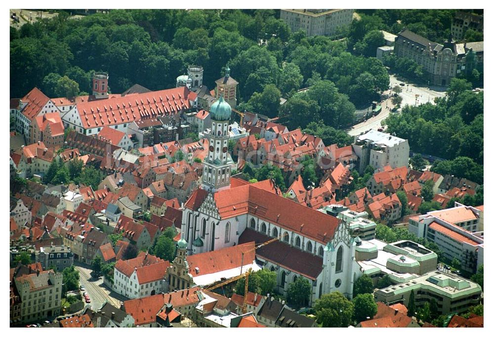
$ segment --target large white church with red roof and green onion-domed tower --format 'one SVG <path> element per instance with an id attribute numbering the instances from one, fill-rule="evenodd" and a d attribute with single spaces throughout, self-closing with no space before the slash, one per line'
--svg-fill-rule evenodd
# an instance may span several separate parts
<path id="1" fill-rule="evenodd" d="M 352 297 L 359 272 L 355 242 L 337 218 L 284 198 L 270 180 L 231 178 L 228 124 L 232 109 L 222 95 L 210 108 L 209 151 L 201 187 L 184 206 L 181 238 L 187 255 L 279 238 L 256 250 L 256 261 L 277 273 L 276 291 L 287 295 L 298 277 L 312 284 L 311 303 L 339 291 Z"/>

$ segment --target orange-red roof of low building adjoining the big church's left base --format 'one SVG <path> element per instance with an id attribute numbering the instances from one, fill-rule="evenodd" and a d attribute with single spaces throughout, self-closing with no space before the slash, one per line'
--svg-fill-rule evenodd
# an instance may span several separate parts
<path id="1" fill-rule="evenodd" d="M 192 276 L 200 276 L 240 267 L 242 253 L 244 253 L 244 265 L 252 264 L 255 260 L 254 243 L 249 242 L 218 251 L 187 256 L 189 273 Z M 196 272 L 196 267 L 199 268 L 199 272 Z"/>

